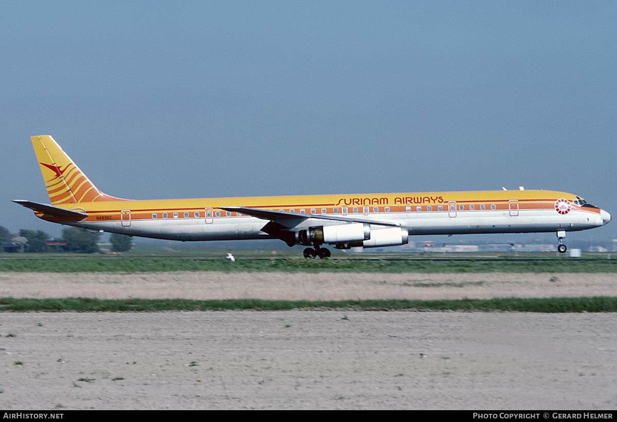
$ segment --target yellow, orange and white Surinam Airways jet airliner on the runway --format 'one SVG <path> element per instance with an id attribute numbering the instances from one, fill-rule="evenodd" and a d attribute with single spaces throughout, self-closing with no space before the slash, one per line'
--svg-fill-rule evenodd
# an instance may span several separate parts
<path id="1" fill-rule="evenodd" d="M 279 197 L 126 200 L 102 193 L 48 135 L 32 136 L 51 203 L 13 202 L 43 220 L 130 236 L 181 240 L 278 238 L 304 245 L 305 258 L 328 248 L 405 245 L 410 235 L 566 232 L 607 224 L 610 214 L 552 190 L 370 193 Z"/>

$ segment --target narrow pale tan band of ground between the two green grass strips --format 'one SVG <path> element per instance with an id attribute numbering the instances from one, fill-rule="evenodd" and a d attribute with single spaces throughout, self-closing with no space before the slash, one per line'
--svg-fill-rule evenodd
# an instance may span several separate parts
<path id="1" fill-rule="evenodd" d="M 460 299 L 617 295 L 616 274 L 0 273 L 0 298 Z"/>

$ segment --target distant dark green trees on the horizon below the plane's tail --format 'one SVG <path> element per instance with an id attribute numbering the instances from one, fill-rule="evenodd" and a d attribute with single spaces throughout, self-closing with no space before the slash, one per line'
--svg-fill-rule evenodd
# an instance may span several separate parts
<path id="1" fill-rule="evenodd" d="M 62 238 L 52 239 L 43 230 L 21 229 L 19 233 L 10 233 L 5 227 L 0 226 L 0 241 L 2 251 L 43 253 L 68 251 L 75 253 L 100 252 L 97 242 L 101 238 L 100 232 L 91 232 L 79 227 L 64 227 Z M 113 252 L 130 251 L 133 242 L 130 236 L 110 235 L 111 250 Z"/>

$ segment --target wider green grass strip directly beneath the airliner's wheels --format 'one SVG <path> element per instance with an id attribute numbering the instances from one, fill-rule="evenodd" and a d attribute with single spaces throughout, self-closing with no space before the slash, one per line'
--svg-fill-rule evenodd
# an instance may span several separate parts
<path id="1" fill-rule="evenodd" d="M 247 261 L 224 259 L 172 258 L 66 258 L 54 259 L 0 259 L 0 272 L 386 272 L 386 273 L 617 273 L 617 259 L 517 259 L 494 260 L 381 260 L 381 259 L 304 259 L 276 258 Z"/>

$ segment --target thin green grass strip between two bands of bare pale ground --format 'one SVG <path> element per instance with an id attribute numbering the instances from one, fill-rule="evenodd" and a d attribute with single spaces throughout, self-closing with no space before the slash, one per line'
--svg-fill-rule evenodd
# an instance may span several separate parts
<path id="1" fill-rule="evenodd" d="M 502 312 L 617 312 L 617 297 L 592 298 L 499 298 L 460 300 L 365 300 L 365 301 L 267 301 L 226 299 L 19 299 L 0 298 L 4 312 L 154 312 L 164 310 L 457 310 Z"/>

